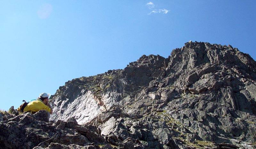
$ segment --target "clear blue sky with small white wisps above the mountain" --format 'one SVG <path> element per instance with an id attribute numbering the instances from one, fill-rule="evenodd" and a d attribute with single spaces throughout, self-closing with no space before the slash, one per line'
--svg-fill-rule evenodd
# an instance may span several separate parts
<path id="1" fill-rule="evenodd" d="M 0 1 L 0 109 L 189 40 L 256 59 L 254 0 Z"/>

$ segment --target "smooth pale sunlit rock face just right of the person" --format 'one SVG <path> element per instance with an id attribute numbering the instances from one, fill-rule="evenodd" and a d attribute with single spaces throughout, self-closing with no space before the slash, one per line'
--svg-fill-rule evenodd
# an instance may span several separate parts
<path id="1" fill-rule="evenodd" d="M 120 100 L 120 93 L 109 92 L 99 99 L 90 90 L 82 90 L 81 95 L 74 100 L 68 98 L 61 100 L 56 97 L 52 103 L 54 106 L 52 106 L 53 114 L 50 116 L 50 120 L 66 121 L 72 117 L 76 119 L 78 124 L 84 124 L 96 118 L 102 111 L 109 110 L 113 106 L 120 106 Z"/>

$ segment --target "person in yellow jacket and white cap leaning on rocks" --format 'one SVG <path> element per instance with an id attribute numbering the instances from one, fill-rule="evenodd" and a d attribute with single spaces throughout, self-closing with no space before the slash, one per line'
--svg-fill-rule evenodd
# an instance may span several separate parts
<path id="1" fill-rule="evenodd" d="M 29 102 L 23 111 L 37 112 L 39 110 L 46 110 L 49 112 L 48 116 L 50 117 L 50 114 L 52 114 L 52 107 L 48 103 L 50 94 L 41 93 L 39 96 L 36 100 Z"/>

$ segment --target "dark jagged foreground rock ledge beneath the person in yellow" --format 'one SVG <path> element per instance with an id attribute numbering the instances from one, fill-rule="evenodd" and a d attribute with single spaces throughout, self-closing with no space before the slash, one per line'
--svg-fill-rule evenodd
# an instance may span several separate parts
<path id="1" fill-rule="evenodd" d="M 0 148 L 84 148 L 92 143 L 107 144 L 93 126 L 80 126 L 76 120 L 68 122 L 48 122 L 47 112 L 40 110 L 36 114 L 24 113 L 6 117 L 0 122 Z M 62 125 L 64 123 L 64 125 Z M 60 126 L 61 125 L 61 126 Z M 96 131 L 95 131 L 96 130 Z M 70 144 L 73 144 L 70 146 Z M 69 145 L 69 146 L 67 146 Z M 60 147 L 58 147 L 60 146 Z"/>

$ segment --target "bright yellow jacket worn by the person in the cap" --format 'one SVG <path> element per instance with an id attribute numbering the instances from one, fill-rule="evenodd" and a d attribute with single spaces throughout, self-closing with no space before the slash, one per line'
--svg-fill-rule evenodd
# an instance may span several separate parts
<path id="1" fill-rule="evenodd" d="M 28 105 L 24 108 L 25 111 L 33 111 L 37 112 L 39 110 L 46 110 L 51 112 L 51 108 L 49 106 L 44 105 L 41 99 L 37 99 L 28 103 Z"/>

